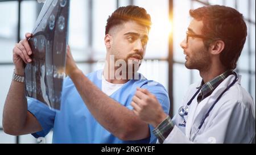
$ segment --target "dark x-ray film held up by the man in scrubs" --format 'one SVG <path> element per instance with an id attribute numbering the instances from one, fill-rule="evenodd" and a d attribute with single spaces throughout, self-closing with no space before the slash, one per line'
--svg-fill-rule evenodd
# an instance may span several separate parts
<path id="1" fill-rule="evenodd" d="M 60 109 L 68 43 L 68 0 L 47 0 L 28 43 L 32 62 L 25 68 L 26 95 Z"/>

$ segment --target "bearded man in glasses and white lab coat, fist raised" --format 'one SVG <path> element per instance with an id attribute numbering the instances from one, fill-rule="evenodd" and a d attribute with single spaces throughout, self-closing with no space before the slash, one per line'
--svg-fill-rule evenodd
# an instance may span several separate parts
<path id="1" fill-rule="evenodd" d="M 186 68 L 199 70 L 202 81 L 189 87 L 172 119 L 146 89 L 137 89 L 133 111 L 155 127 L 159 143 L 251 143 L 254 101 L 233 71 L 247 36 L 243 16 L 218 5 L 189 14 L 193 19 L 180 46 Z"/>

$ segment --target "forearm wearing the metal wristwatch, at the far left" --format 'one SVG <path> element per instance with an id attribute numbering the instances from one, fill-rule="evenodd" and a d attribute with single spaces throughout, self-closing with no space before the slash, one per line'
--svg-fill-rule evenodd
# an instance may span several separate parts
<path id="1" fill-rule="evenodd" d="M 24 76 L 24 72 L 16 72 L 16 74 Z M 27 100 L 24 89 L 24 83 L 11 82 L 3 108 L 3 128 L 7 132 L 19 131 L 26 123 Z"/>

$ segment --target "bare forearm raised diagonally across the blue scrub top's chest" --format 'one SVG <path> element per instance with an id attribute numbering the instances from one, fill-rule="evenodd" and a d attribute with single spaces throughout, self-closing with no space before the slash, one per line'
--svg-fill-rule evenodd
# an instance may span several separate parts
<path id="1" fill-rule="evenodd" d="M 146 123 L 122 104 L 104 94 L 80 70 L 72 73 L 70 77 L 94 118 L 113 135 L 126 139 L 127 134 L 131 135 L 132 133 L 129 140 L 138 140 L 149 136 Z"/>

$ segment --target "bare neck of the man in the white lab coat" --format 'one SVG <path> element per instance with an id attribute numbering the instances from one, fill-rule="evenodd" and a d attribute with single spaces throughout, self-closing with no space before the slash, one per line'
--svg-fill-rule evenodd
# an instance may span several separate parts
<path id="1" fill-rule="evenodd" d="M 224 66 L 216 65 L 210 66 L 207 69 L 199 70 L 200 76 L 203 78 L 204 83 L 207 83 L 214 79 L 215 77 L 219 76 L 220 74 L 226 72 L 226 68 Z"/>

